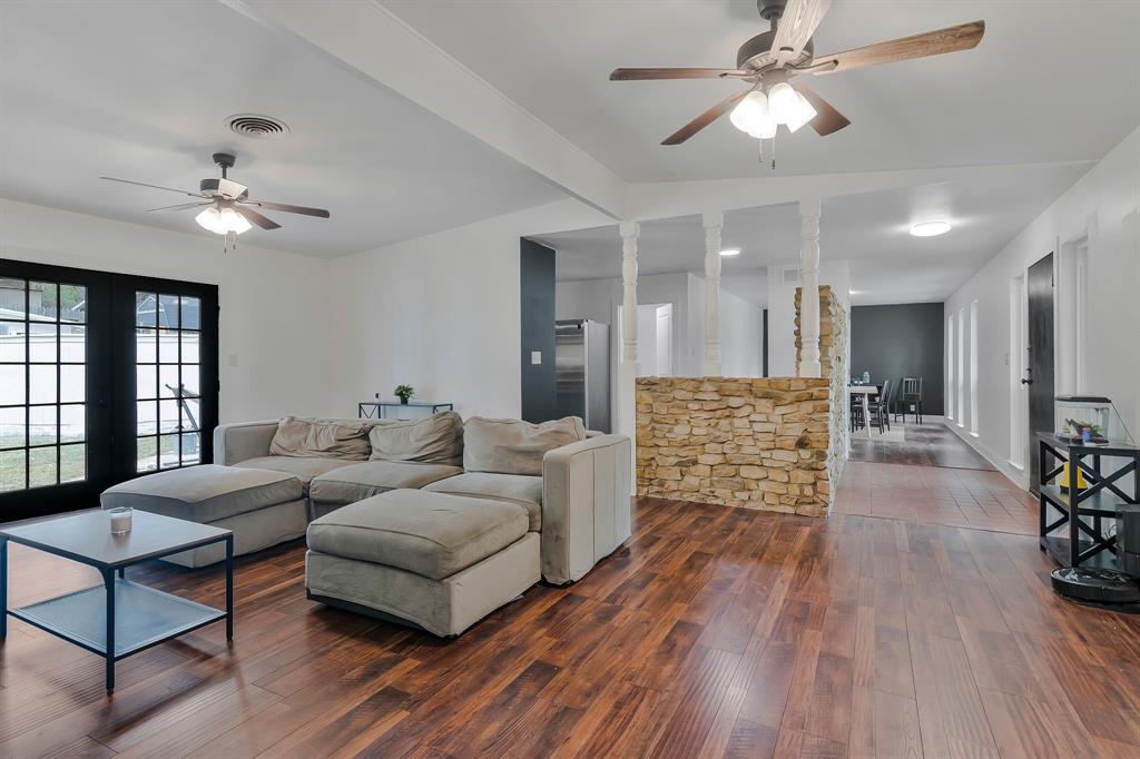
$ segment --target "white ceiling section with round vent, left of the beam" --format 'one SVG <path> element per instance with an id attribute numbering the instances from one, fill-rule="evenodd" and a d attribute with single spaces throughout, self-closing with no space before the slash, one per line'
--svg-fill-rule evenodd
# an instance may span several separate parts
<path id="1" fill-rule="evenodd" d="M 337 256 L 564 195 L 466 132 L 219 2 L 0 2 L 0 195 L 180 231 L 148 214 L 197 189 L 210 155 L 237 154 L 252 197 L 329 209 L 267 212 L 251 244 Z M 237 137 L 242 113 L 292 133 Z M 182 197 L 181 199 L 190 199 Z"/>

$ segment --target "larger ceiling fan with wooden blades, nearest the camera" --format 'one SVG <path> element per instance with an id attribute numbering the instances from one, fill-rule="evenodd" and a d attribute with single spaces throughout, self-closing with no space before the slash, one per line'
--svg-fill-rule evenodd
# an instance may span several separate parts
<path id="1" fill-rule="evenodd" d="M 968 50 L 982 41 L 986 24 L 976 21 L 934 32 L 879 42 L 845 52 L 816 56 L 812 34 L 831 0 L 758 0 L 760 17 L 771 30 L 740 46 L 735 68 L 617 68 L 612 81 L 665 79 L 738 79 L 748 89 L 716 104 L 678 129 L 661 145 L 681 145 L 732 111 L 736 129 L 757 139 L 773 139 L 776 126 L 795 132 L 811 124 L 820 136 L 831 134 L 850 121 L 803 82 L 805 74 L 833 74 L 878 64 Z"/>

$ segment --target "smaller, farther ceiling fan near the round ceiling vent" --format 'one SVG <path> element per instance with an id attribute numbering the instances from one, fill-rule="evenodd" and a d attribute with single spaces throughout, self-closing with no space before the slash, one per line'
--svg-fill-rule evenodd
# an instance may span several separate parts
<path id="1" fill-rule="evenodd" d="M 285 213 L 302 213 L 307 217 L 328 218 L 325 209 L 310 209 L 304 205 L 288 205 L 286 203 L 270 203 L 268 201 L 250 199 L 250 188 L 241 182 L 229 179 L 229 170 L 234 168 L 236 158 L 230 153 L 214 153 L 213 162 L 221 168 L 221 178 L 210 177 L 198 182 L 198 191 L 174 189 L 172 187 L 161 187 L 147 182 L 136 182 L 130 179 L 116 179 L 115 177 L 99 177 L 113 182 L 125 185 L 138 185 L 139 187 L 150 187 L 166 190 L 168 193 L 179 193 L 198 198 L 193 203 L 180 203 L 178 205 L 165 205 L 160 209 L 149 209 L 148 213 L 162 213 L 166 211 L 189 211 L 190 209 L 203 209 L 194 220 L 203 229 L 207 229 L 218 235 L 225 235 L 227 245 L 233 244 L 234 237 L 244 231 L 249 231 L 253 225 L 262 229 L 279 229 L 280 225 L 262 215 L 254 209 L 268 209 L 270 211 L 284 211 Z"/>

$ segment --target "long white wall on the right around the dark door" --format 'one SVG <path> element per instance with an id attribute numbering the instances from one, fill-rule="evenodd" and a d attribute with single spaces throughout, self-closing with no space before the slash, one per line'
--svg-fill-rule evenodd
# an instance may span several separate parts
<path id="1" fill-rule="evenodd" d="M 1140 433 L 1140 130 L 1133 131 L 1088 174 L 1050 205 L 946 301 L 946 316 L 969 312 L 978 301 L 978 448 L 1007 472 L 1010 450 L 1010 389 L 1025 414 L 1027 395 L 1009 369 L 1010 281 L 1042 256 L 1088 235 L 1089 307 L 1085 390 L 1112 398 L 1133 435 Z M 1064 288 L 1064 283 L 1058 283 Z M 1054 293 L 1056 294 L 1056 293 Z M 1060 299 L 1056 299 L 1058 301 Z M 1064 332 L 1062 324 L 1058 330 Z M 955 324 L 956 330 L 956 324 Z M 961 340 L 961 335 L 956 336 Z M 969 330 L 966 335 L 969 338 Z M 1058 345 L 1059 348 L 1059 345 Z M 1015 346 L 1013 350 L 1018 350 Z M 967 345 L 966 353 L 969 354 Z M 1058 362 L 1062 360 L 1058 350 Z M 1058 381 L 1061 372 L 1056 374 Z M 1059 384 L 1058 387 L 1061 385 Z M 955 408 L 958 418 L 970 409 Z M 1027 418 L 1023 416 L 1021 418 Z M 1028 443 L 1028 441 L 1026 441 Z M 1027 459 L 1028 451 L 1025 452 Z M 1011 472 L 1023 484 L 1019 472 Z"/>

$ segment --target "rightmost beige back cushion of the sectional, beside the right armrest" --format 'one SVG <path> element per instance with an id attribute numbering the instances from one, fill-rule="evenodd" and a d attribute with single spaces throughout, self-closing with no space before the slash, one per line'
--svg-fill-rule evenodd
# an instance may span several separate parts
<path id="1" fill-rule="evenodd" d="M 473 416 L 463 427 L 463 468 L 540 475 L 547 451 L 585 439 L 586 427 L 577 416 L 542 424 Z"/>

